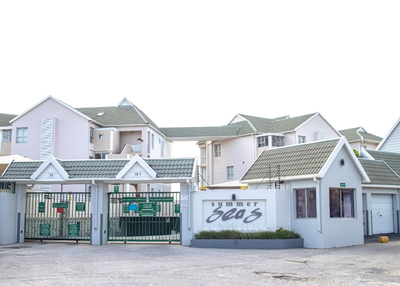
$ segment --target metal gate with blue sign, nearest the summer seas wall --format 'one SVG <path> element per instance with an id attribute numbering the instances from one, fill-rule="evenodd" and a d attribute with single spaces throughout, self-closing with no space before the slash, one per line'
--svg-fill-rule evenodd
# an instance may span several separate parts
<path id="1" fill-rule="evenodd" d="M 180 193 L 108 194 L 109 241 L 179 241 Z"/>

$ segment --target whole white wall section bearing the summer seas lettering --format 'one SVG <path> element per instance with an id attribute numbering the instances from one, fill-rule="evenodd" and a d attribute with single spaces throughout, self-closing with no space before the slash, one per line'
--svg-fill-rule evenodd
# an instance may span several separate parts
<path id="1" fill-rule="evenodd" d="M 235 200 L 232 200 L 233 194 Z M 191 199 L 193 234 L 201 230 L 291 229 L 287 190 L 196 191 Z"/>

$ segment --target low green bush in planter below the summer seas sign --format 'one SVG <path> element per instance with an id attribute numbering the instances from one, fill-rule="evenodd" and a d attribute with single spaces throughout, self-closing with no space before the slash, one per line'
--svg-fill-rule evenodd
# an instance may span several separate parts
<path id="1" fill-rule="evenodd" d="M 196 239 L 293 239 L 301 238 L 298 233 L 290 230 L 241 232 L 237 230 L 202 230 L 194 235 Z"/>

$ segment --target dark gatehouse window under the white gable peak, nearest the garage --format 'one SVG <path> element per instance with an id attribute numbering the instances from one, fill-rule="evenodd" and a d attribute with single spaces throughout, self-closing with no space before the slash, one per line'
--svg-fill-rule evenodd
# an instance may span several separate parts
<path id="1" fill-rule="evenodd" d="M 354 217 L 354 190 L 329 189 L 330 217 Z"/>

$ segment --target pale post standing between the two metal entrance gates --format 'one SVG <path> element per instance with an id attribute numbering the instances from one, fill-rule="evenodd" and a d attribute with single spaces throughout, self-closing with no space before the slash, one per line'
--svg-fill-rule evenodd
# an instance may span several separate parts
<path id="1" fill-rule="evenodd" d="M 108 184 L 92 182 L 92 197 L 90 200 L 90 244 L 103 245 L 108 243 Z"/>

